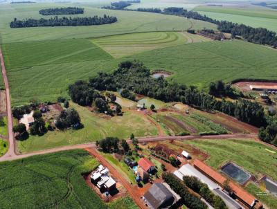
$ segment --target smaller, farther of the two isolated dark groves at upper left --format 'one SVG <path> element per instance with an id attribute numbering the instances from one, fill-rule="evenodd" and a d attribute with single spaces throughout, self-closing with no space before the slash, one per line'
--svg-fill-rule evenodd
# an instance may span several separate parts
<path id="1" fill-rule="evenodd" d="M 66 8 L 48 8 L 39 10 L 40 15 L 77 15 L 84 14 L 84 8 L 66 7 Z"/>

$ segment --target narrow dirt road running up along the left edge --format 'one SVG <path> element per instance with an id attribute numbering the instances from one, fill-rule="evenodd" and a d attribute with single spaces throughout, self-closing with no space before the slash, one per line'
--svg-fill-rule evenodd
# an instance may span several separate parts
<path id="1" fill-rule="evenodd" d="M 8 152 L 2 158 L 10 158 L 12 156 L 16 156 L 15 154 L 15 141 L 12 133 L 12 107 L 10 104 L 10 87 L 8 84 L 8 78 L 6 73 L 6 67 L 4 64 L 3 53 L 0 48 L 0 59 L 1 59 L 1 66 L 2 66 L 2 75 L 3 75 L 3 82 L 6 88 L 6 102 L 7 102 L 7 113 L 8 113 L 8 141 L 9 141 L 9 149 Z M 2 159 L 1 158 L 1 159 Z"/>

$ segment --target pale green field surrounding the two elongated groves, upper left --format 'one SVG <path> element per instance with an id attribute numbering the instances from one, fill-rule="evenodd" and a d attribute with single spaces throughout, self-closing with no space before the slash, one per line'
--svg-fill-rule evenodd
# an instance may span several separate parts
<path id="1" fill-rule="evenodd" d="M 33 3 L 20 4 L 1 4 L 0 8 L 0 33 L 1 43 L 7 42 L 33 42 L 49 39 L 72 39 L 102 37 L 106 35 L 116 35 L 124 33 L 139 33 L 148 31 L 168 31 L 168 30 L 186 30 L 190 27 L 215 28 L 214 24 L 204 21 L 188 20 L 184 17 L 175 17 L 169 15 L 154 14 L 149 12 L 132 12 L 118 10 L 104 10 L 96 8 L 93 3 L 80 3 L 78 6 L 84 8 L 82 16 L 103 16 L 104 14 L 116 16 L 118 21 L 114 24 L 101 26 L 76 26 L 76 27 L 38 27 L 38 28 L 10 28 L 9 24 L 15 17 L 17 19 L 43 17 L 39 15 L 42 8 L 76 6 L 72 3 Z M 105 4 L 105 3 L 103 3 Z M 70 16 L 70 15 L 69 15 Z M 48 18 L 48 17 L 46 17 Z"/>

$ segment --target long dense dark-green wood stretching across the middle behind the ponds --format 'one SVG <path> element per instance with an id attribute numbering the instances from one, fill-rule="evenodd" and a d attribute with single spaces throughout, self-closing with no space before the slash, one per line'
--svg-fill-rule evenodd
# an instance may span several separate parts
<path id="1" fill-rule="evenodd" d="M 89 86 L 99 91 L 127 89 L 163 102 L 183 102 L 206 111 L 222 111 L 256 127 L 267 125 L 264 109 L 257 102 L 243 99 L 237 102 L 219 101 L 195 87 L 171 83 L 163 77 L 152 78 L 150 70 L 136 60 L 121 62 L 113 73 L 98 73 L 98 76 L 89 79 Z"/>

